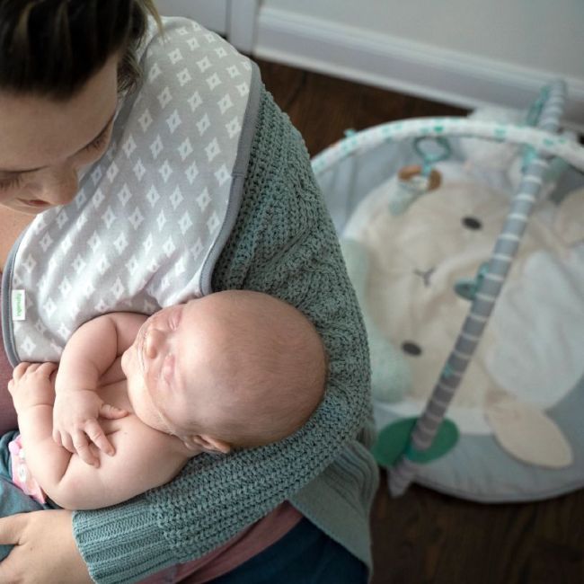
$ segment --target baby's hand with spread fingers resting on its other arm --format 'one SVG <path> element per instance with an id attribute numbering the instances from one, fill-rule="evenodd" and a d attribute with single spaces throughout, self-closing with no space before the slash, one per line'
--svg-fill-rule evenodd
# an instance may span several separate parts
<path id="1" fill-rule="evenodd" d="M 93 456 L 90 443 L 107 455 L 115 454 L 114 447 L 105 436 L 97 419 L 117 420 L 128 415 L 91 389 L 72 389 L 58 392 L 53 409 L 53 440 L 70 453 L 78 455 L 88 465 L 99 466 L 99 459 Z"/>

